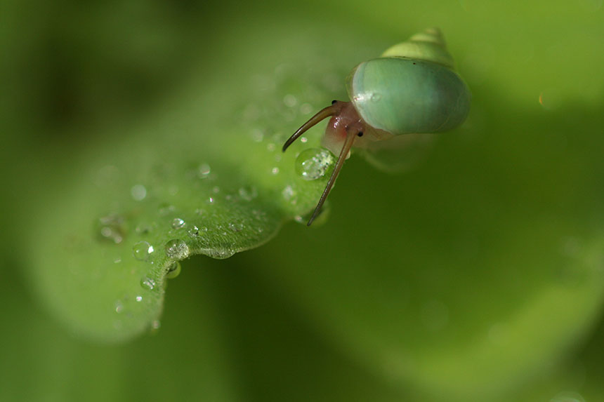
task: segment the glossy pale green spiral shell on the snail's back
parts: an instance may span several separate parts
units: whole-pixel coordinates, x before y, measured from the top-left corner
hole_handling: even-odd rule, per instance
[[[395,135],[451,130],[466,119],[471,99],[452,68],[440,30],[428,29],[355,67],[348,95],[373,128]]]

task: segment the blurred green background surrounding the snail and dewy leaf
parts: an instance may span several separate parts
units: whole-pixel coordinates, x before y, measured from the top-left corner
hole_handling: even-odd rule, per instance
[[[473,104],[419,166],[353,157],[325,225],[186,260],[153,334],[94,344],[48,314],[30,234],[103,144],[205,87],[177,126],[221,135],[205,117],[263,102],[257,74],[431,26]],[[4,1],[0,400],[604,401],[603,43],[601,0]]]

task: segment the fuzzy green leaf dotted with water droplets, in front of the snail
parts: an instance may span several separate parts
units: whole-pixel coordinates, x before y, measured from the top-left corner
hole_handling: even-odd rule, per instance
[[[73,333],[114,342],[155,328],[179,261],[230,257],[265,243],[286,220],[304,221],[332,161],[314,180],[296,173],[296,156],[318,147],[319,129],[286,153],[281,146],[333,96],[333,84],[317,79],[331,65],[310,64],[241,75],[240,88],[256,99],[239,105],[220,83],[209,85],[211,76],[192,80],[155,118],[80,151],[82,173],[66,175],[70,185],[54,198],[44,195],[29,233],[32,282]]]

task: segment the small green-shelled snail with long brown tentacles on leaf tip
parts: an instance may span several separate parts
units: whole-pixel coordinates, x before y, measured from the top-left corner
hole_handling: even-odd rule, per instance
[[[283,152],[310,127],[331,117],[322,145],[339,155],[308,226],[319,214],[351,147],[411,133],[439,133],[464,122],[470,110],[468,86],[454,72],[453,58],[438,28],[411,36],[381,57],[350,72],[350,102],[334,100],[304,123],[283,145]]]

